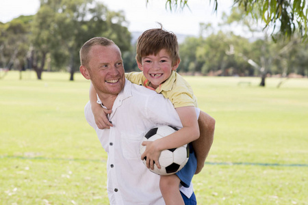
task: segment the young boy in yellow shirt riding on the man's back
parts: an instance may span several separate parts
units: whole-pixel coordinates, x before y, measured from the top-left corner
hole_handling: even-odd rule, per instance
[[[198,139],[200,133],[194,109],[197,103],[190,85],[175,72],[181,61],[175,34],[164,31],[162,28],[144,31],[138,38],[136,61],[142,72],[128,73],[126,74],[127,79],[168,98],[174,105],[183,125],[179,131],[162,139],[142,143],[146,146],[146,151],[141,159],[146,156],[147,167],[153,169],[154,163],[160,167],[158,158],[162,150],[177,148]],[[102,107],[95,103],[97,96],[92,85],[90,101],[97,125],[112,126],[111,122],[107,122],[107,118],[104,118],[106,114],[110,114],[110,111],[104,110],[102,115]],[[184,187],[190,186],[197,165],[194,150],[192,146],[190,148],[190,158],[183,169],[176,174],[161,176],[159,187],[166,204],[184,204],[179,192],[179,184],[181,183]]]

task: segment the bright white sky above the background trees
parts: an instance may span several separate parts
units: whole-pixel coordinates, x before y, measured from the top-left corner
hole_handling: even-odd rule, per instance
[[[214,13],[214,0],[190,0],[190,10],[166,10],[166,0],[99,0],[109,10],[125,12],[129,31],[145,31],[157,28],[157,22],[164,29],[176,34],[198,36],[199,23],[211,23],[214,27],[221,21],[222,12],[229,13],[233,0],[218,0],[218,12]],[[36,14],[39,0],[0,0],[0,21],[6,23],[20,15]]]

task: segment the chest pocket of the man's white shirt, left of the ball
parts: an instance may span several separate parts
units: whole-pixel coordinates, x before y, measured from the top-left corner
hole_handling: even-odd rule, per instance
[[[142,134],[131,135],[127,133],[121,133],[120,136],[121,136],[120,139],[121,139],[121,146],[124,158],[140,159],[141,154],[139,152],[139,148],[142,142],[143,135]]]

